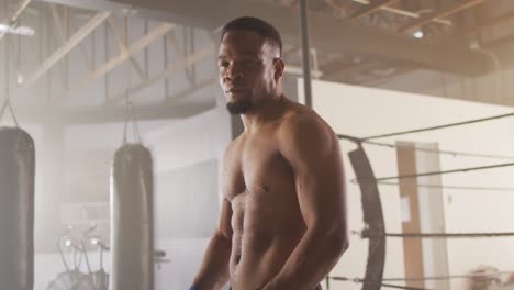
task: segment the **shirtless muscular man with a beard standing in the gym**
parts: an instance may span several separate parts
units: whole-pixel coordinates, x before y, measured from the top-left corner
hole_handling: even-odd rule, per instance
[[[282,94],[279,33],[239,18],[219,52],[227,110],[245,131],[226,149],[223,204],[194,290],[313,290],[348,247],[337,136]]]

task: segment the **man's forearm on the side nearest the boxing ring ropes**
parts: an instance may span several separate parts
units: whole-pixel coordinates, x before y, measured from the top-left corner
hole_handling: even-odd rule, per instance
[[[347,246],[346,233],[308,230],[282,270],[262,290],[312,290]]]

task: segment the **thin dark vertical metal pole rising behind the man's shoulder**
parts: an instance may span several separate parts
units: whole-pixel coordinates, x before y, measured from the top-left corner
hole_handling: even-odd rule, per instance
[[[302,38],[302,68],[305,105],[312,107],[311,59],[309,46],[308,0],[300,0],[300,33]]]

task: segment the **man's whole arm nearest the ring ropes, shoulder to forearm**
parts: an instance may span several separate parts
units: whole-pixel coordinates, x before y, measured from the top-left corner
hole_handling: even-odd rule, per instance
[[[321,119],[286,121],[280,153],[294,174],[306,232],[264,290],[312,290],[348,247],[343,161],[337,136]]]

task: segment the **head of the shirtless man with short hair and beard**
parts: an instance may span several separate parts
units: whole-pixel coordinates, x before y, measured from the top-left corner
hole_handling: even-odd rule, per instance
[[[232,114],[247,113],[281,94],[281,53],[280,34],[260,19],[238,18],[223,27],[217,64]]]

